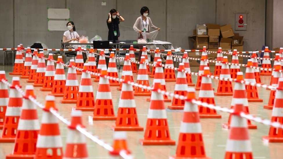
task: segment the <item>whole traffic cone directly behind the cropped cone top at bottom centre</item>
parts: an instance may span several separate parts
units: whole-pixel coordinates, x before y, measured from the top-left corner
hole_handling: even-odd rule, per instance
[[[114,131],[143,131],[144,128],[139,126],[137,118],[136,103],[134,99],[133,87],[127,84],[131,76],[129,72],[125,73],[122,84],[121,96],[118,105],[118,115],[115,126],[112,126]]]

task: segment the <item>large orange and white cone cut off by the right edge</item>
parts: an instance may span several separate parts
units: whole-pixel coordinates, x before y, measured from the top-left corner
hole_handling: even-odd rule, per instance
[[[279,78],[278,86],[275,95],[274,106],[272,110],[271,122],[283,124],[283,78]],[[270,126],[268,136],[263,136],[262,140],[265,142],[283,142],[283,130],[278,127]]]

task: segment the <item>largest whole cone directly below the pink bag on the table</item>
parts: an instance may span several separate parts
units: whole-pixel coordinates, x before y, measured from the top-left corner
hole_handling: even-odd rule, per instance
[[[81,74],[81,83],[79,86],[79,95],[77,100],[76,110],[93,111],[94,110],[94,95],[90,74],[86,73],[89,70],[88,63],[84,63],[84,70]]]

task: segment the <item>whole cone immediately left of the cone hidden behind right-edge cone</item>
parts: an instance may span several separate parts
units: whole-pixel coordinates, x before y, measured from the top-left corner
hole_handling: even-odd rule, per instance
[[[253,68],[250,68],[249,66],[252,66],[252,60],[248,59],[247,67],[246,67],[246,76],[245,81],[256,83],[255,81],[255,72],[253,72]],[[252,85],[246,85],[246,91],[247,91],[247,98],[248,102],[263,102],[262,99],[259,99],[258,93],[257,93],[257,87]]]

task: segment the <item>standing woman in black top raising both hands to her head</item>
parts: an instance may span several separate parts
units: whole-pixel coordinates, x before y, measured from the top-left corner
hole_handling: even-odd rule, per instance
[[[119,23],[125,19],[115,9],[111,9],[107,19],[108,40],[118,40],[120,36]]]

